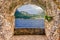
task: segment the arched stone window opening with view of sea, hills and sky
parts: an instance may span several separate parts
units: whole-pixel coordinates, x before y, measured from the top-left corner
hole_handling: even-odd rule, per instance
[[[25,4],[16,9],[14,16],[14,35],[45,35],[45,12],[42,7]]]

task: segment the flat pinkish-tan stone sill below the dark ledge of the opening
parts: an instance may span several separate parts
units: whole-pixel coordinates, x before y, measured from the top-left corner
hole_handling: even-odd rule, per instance
[[[20,35],[12,37],[12,40],[48,40],[45,35]]]

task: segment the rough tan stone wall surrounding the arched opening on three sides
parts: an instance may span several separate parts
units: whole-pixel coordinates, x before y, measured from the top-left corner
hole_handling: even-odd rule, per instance
[[[45,31],[49,40],[60,40],[60,0],[0,0],[0,40],[10,40],[14,33],[14,12],[24,4],[43,5],[45,13],[53,20],[45,20]]]

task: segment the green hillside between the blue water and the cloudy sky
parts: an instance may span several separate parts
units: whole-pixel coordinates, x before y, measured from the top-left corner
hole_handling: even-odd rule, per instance
[[[19,12],[16,10],[15,12],[15,18],[22,18],[22,19],[36,19],[36,18],[44,18],[44,12],[38,13],[38,14],[29,14],[28,12],[21,11]]]

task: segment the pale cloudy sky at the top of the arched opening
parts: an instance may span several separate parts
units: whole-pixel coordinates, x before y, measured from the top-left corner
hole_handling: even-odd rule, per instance
[[[43,9],[39,6],[36,5],[32,5],[32,4],[27,4],[27,5],[23,5],[19,8],[17,8],[17,10],[20,11],[25,11],[28,12],[29,14],[37,14],[37,13],[42,13]]]

